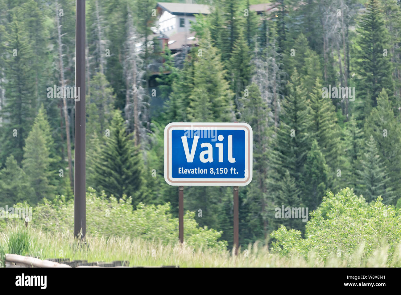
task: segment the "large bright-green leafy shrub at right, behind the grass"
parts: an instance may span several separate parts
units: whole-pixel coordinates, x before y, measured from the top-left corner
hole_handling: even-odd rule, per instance
[[[362,251],[364,258],[386,243],[391,261],[401,240],[401,216],[381,201],[379,196],[367,203],[350,188],[340,190],[335,196],[329,192],[310,214],[305,238],[301,238],[299,231],[282,226],[271,233],[274,238],[271,251],[283,256],[292,253],[307,257],[313,249],[324,260]]]

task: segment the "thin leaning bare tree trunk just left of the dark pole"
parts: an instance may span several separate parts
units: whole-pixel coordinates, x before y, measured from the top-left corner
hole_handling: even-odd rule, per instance
[[[61,43],[61,25],[59,19],[59,4],[56,2],[56,23],[57,23],[57,33],[58,33],[58,43],[59,43],[59,68],[60,68],[60,80],[61,80],[61,89],[64,91],[64,63],[63,63],[63,43]],[[70,123],[68,121],[68,112],[67,112],[67,99],[63,93],[63,111],[64,111],[64,120],[65,120],[65,131],[67,137],[67,156],[68,156],[68,169],[70,176],[70,185],[71,190],[74,191],[74,180],[73,180],[73,168],[72,168],[72,157],[71,157],[71,138],[70,138]]]

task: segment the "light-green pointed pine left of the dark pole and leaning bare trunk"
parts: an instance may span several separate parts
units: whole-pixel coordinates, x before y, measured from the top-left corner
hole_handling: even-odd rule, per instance
[[[43,198],[55,197],[55,186],[51,179],[58,175],[58,171],[52,171],[54,159],[50,158],[49,148],[52,142],[50,128],[41,109],[26,138],[22,160],[28,183],[35,192],[30,198],[31,204],[36,204]]]

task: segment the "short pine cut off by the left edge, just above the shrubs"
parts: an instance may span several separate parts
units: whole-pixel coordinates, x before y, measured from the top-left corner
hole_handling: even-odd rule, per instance
[[[27,182],[27,176],[18,166],[13,155],[10,155],[0,170],[0,207],[9,207],[18,202],[30,202],[35,199],[35,192]]]

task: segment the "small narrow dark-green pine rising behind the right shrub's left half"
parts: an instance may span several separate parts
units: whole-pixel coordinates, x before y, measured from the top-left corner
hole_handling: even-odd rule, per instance
[[[302,187],[306,196],[305,204],[311,212],[319,206],[322,197],[325,195],[326,183],[329,178],[329,169],[316,139],[312,141],[312,147],[306,157],[304,171],[305,177]]]

